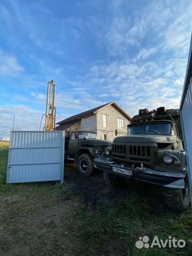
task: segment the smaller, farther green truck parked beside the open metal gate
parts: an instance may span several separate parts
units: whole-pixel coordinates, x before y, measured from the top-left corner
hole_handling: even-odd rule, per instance
[[[65,159],[77,164],[78,172],[90,176],[94,172],[93,158],[102,154],[110,141],[97,139],[92,131],[73,131],[66,134]]]

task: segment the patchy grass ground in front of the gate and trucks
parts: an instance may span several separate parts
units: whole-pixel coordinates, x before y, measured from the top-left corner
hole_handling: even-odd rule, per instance
[[[0,149],[1,255],[191,255],[190,209],[164,211],[161,202],[153,206],[151,195],[139,196],[137,190],[129,198],[92,205],[83,203],[73,182],[5,185],[7,155]],[[66,171],[74,174],[74,167]],[[186,246],[139,250],[135,242],[144,235],[150,242],[171,235]]]

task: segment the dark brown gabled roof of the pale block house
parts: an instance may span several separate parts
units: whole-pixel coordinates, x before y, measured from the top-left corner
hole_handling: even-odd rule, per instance
[[[101,105],[99,107],[92,108],[90,110],[84,111],[84,112],[79,113],[77,115],[70,116],[70,117],[58,122],[57,124],[64,124],[64,123],[67,123],[69,121],[80,120],[83,117],[96,114],[98,111],[100,111],[101,109],[103,109],[103,108],[105,108],[109,105],[114,105],[127,119],[131,119],[131,117],[122,108],[120,108],[114,101],[112,101],[112,102],[109,102],[107,104]]]

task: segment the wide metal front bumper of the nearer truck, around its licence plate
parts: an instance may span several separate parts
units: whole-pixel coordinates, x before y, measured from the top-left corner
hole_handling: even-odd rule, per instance
[[[135,170],[131,167],[121,167],[118,163],[108,163],[106,159],[94,158],[94,167],[102,171],[110,172],[119,175],[125,179],[134,179],[154,185],[159,185],[169,188],[185,188],[185,174],[174,171],[156,171],[145,167],[143,170]],[[113,167],[123,170],[132,171],[132,176],[113,171]]]

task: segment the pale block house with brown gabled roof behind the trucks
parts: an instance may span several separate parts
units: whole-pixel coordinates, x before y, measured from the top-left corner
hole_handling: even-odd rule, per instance
[[[56,130],[90,130],[97,132],[98,139],[113,140],[116,129],[119,135],[126,134],[130,119],[117,103],[109,102],[60,121]]]

